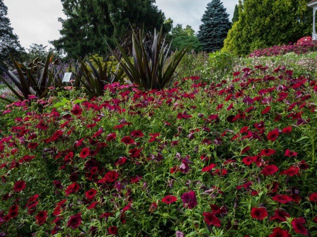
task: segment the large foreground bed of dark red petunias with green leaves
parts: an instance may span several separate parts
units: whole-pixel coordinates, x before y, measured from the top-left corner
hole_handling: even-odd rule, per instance
[[[316,79],[105,89],[2,112],[0,236],[317,236]]]

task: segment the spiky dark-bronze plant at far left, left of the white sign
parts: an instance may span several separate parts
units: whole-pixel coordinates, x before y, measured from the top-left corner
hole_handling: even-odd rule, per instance
[[[27,100],[30,95],[34,95],[36,98],[41,99],[48,95],[49,87],[62,86],[58,70],[51,65],[53,63],[53,55],[51,55],[51,53],[47,55],[45,63],[38,61],[38,59],[30,64],[19,63],[13,59],[12,61],[17,75],[13,74],[10,70],[7,71],[2,66],[0,66],[0,70],[11,79],[17,90],[3,79],[3,77],[0,76],[0,79],[17,98],[7,95],[6,97],[0,97],[1,99],[8,102],[17,99]]]

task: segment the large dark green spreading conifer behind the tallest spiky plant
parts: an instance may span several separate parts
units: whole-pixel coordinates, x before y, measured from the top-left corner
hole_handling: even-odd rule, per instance
[[[61,0],[66,19],[62,23],[62,37],[52,43],[68,56],[106,54],[106,41],[115,45],[128,31],[130,24],[144,30],[164,27],[164,14],[154,5],[155,0]]]

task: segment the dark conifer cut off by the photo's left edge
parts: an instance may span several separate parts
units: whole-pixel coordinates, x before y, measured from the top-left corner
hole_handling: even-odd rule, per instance
[[[11,64],[9,55],[14,58],[19,57],[24,52],[18,40],[18,36],[13,33],[13,28],[7,15],[8,8],[0,0],[0,65]]]

